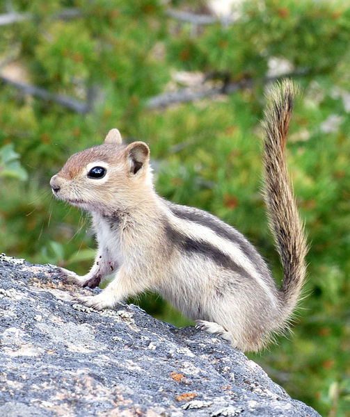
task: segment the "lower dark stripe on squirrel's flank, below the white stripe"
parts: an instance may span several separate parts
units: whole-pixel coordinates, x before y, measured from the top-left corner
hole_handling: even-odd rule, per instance
[[[214,261],[216,265],[231,270],[236,275],[239,275],[239,277],[252,279],[244,268],[237,265],[230,256],[219,250],[217,247],[210,245],[210,243],[207,243],[204,240],[196,240],[182,234],[180,231],[174,229],[166,219],[164,219],[164,229],[170,243],[179,248],[183,253],[189,252],[191,254],[200,254],[205,256],[205,258]]]

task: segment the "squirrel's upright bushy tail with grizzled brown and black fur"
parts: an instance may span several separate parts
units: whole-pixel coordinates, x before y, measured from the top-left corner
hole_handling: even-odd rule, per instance
[[[292,81],[276,83],[264,112],[264,199],[269,225],[283,265],[280,300],[286,320],[298,302],[305,279],[308,252],[285,161],[285,145],[297,92]]]

